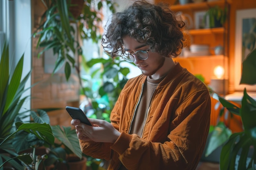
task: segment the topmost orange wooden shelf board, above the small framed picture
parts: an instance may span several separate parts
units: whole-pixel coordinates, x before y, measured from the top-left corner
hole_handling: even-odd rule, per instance
[[[202,9],[209,9],[210,7],[219,6],[225,7],[225,3],[231,4],[231,0],[216,0],[211,2],[200,2],[200,3],[188,3],[184,5],[171,5],[171,10],[173,11],[182,11],[182,10],[202,10]]]

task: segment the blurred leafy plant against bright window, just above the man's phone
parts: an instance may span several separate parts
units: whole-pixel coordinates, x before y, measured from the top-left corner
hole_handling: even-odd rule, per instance
[[[126,61],[120,57],[113,60],[109,56],[108,58],[95,58],[89,61],[85,61],[83,58],[81,65],[90,69],[87,69],[86,75],[81,76],[81,94],[85,94],[86,97],[80,108],[87,113],[88,117],[110,121],[110,112],[115,106],[117,97],[126,84],[127,75],[130,72],[128,67],[122,66],[122,62]],[[86,157],[88,166],[92,170],[102,169],[100,165],[105,163],[104,160]]]

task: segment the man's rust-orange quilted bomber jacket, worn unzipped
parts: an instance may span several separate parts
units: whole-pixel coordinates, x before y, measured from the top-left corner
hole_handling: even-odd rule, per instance
[[[153,94],[140,138],[128,132],[145,81],[145,75],[129,79],[111,112],[111,124],[121,132],[117,141],[80,140],[81,150],[111,159],[108,170],[118,170],[121,163],[128,170],[195,170],[209,132],[207,86],[176,63]]]

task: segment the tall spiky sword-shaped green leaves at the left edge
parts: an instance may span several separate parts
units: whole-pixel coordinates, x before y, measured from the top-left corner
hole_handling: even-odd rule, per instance
[[[21,95],[27,90],[24,87],[30,75],[29,72],[27,76],[21,79],[23,58],[24,55],[20,58],[15,69],[13,69],[13,73],[10,73],[9,45],[7,43],[4,44],[0,61],[0,142],[4,141],[4,143],[0,145],[0,150],[3,149],[11,155],[16,155],[16,153],[13,152],[13,147],[10,145],[13,136],[9,137],[9,135],[14,131],[14,120],[19,115],[20,108],[27,99],[27,97],[21,98]],[[0,164],[3,163],[3,157],[0,154]],[[15,161],[13,160],[13,162]],[[22,169],[20,164],[13,164],[17,165],[15,168]]]

